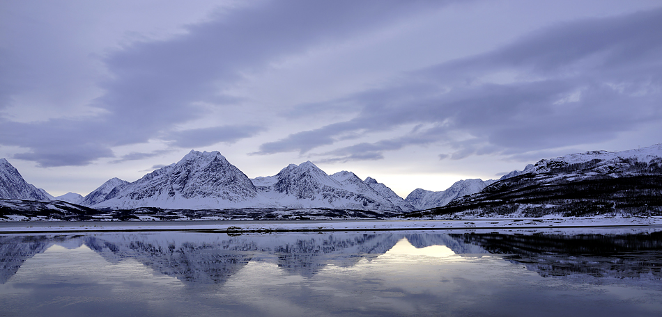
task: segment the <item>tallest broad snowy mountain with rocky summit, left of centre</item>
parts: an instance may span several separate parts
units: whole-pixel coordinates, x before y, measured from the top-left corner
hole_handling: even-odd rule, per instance
[[[192,150],[178,163],[146,174],[116,193],[111,190],[108,195],[111,194],[112,197],[105,197],[108,199],[93,206],[117,209],[143,206],[171,209],[245,207],[254,204],[257,189],[219,152]]]

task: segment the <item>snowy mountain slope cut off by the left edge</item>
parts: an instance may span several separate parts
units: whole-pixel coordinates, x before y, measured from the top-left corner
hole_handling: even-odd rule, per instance
[[[0,158],[0,198],[11,200],[52,200],[45,190],[28,184],[5,158]]]

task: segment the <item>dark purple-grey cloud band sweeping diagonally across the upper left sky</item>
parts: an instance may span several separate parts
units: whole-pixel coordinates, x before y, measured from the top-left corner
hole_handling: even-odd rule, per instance
[[[240,128],[220,131],[217,136],[203,131],[185,131],[177,136],[174,128],[207,113],[206,108],[197,106],[199,101],[221,100],[218,107],[231,102],[219,95],[220,90],[241,79],[240,72],[260,70],[288,54],[342,41],[445,2],[265,1],[261,6],[223,11],[210,22],[189,26],[185,35],[134,42],[105,56],[102,61],[110,76],[100,83],[105,93],[92,104],[104,113],[95,122],[6,122],[11,128],[5,125],[3,130],[12,131],[0,134],[0,144],[30,149],[16,158],[59,166],[85,165],[96,158],[112,157],[111,147],[161,136],[169,136],[180,147],[236,142],[252,132]],[[6,106],[19,89],[9,83],[31,80],[29,67],[15,69],[6,64],[1,65],[8,72],[0,74],[0,107]],[[10,64],[19,65],[20,58]]]

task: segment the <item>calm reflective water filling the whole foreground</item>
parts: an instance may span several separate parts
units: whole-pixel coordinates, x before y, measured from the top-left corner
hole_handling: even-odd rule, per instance
[[[662,316],[662,229],[0,235],[0,316]]]

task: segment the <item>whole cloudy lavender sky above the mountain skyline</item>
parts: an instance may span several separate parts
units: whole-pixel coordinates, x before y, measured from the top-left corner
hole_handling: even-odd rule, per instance
[[[0,158],[52,195],[191,149],[402,197],[662,143],[659,0],[0,0]]]

